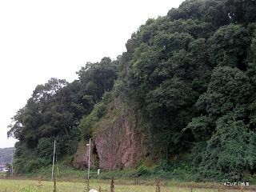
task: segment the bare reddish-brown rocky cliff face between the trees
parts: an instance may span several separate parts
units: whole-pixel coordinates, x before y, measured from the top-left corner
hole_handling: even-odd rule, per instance
[[[136,165],[148,153],[145,139],[137,128],[134,111],[115,98],[108,105],[108,112],[94,129],[91,164],[104,170],[121,170]],[[74,158],[74,166],[88,164],[88,152],[80,144]],[[96,167],[98,166],[98,167]]]

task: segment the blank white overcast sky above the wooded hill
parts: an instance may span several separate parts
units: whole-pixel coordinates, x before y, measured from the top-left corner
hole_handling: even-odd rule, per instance
[[[0,1],[0,148],[14,146],[7,126],[34,88],[50,78],[78,79],[86,62],[116,58],[147,18],[184,0]]]

